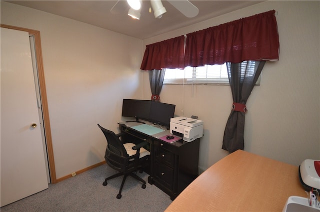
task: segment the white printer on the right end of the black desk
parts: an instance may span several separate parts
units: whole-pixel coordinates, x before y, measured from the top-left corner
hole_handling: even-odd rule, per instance
[[[170,133],[183,135],[183,141],[191,142],[203,136],[203,121],[183,116],[170,118]]]

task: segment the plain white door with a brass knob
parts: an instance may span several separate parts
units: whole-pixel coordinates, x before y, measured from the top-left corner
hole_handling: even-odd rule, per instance
[[[28,32],[1,27],[0,42],[0,205],[5,206],[48,184]]]

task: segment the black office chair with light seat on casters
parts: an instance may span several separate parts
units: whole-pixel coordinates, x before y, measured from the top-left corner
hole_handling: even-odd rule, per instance
[[[123,175],[121,187],[119,194],[116,196],[117,199],[120,199],[121,191],[127,176],[131,176],[136,180],[142,182],[142,189],[145,189],[145,181],[136,175],[136,172],[139,171],[142,173],[142,170],[146,168],[149,164],[149,155],[150,153],[143,148],[147,145],[147,142],[139,143],[135,145],[133,143],[122,143],[119,139],[123,134],[119,133],[115,135],[112,131],[104,129],[98,124],[98,127],[102,130],[106,141],[107,146],[105,149],[104,159],[105,162],[114,170],[119,173],[112,175],[106,178],[103,182],[103,186],[107,185],[107,181]]]

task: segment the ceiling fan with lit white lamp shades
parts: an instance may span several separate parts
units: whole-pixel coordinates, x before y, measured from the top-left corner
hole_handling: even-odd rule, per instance
[[[114,9],[117,3],[122,0],[118,0],[110,9]],[[127,4],[130,6],[128,10],[128,15],[132,18],[140,19],[140,10],[142,6],[142,0],[126,0]],[[172,6],[174,6],[177,10],[179,10],[186,17],[195,17],[199,13],[199,9],[194,6],[188,0],[166,0]],[[161,0],[150,0],[151,7],[149,7],[149,12],[153,10],[153,14],[155,18],[161,18],[164,13],[166,13],[166,9],[163,7]]]

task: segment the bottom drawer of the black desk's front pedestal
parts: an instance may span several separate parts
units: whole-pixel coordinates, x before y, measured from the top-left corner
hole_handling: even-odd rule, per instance
[[[172,190],[173,188],[173,169],[160,163],[154,164],[155,178],[161,184]]]

